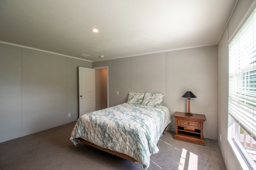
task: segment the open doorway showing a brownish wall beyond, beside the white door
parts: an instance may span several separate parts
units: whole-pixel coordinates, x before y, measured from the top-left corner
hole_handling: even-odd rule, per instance
[[[108,67],[95,69],[96,110],[108,107]]]

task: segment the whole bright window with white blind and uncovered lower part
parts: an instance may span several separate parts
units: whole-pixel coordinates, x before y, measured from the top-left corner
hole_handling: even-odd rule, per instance
[[[252,169],[256,169],[255,11],[229,44],[229,125],[232,128],[228,137]]]

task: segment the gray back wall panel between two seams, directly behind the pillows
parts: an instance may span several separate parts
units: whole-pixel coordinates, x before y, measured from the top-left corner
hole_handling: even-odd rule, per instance
[[[132,57],[132,92],[156,92],[165,94],[163,105],[167,106],[166,61],[167,53]]]

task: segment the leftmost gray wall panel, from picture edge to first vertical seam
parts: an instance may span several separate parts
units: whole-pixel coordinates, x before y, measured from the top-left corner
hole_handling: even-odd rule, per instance
[[[22,136],[21,48],[0,43],[0,142]]]

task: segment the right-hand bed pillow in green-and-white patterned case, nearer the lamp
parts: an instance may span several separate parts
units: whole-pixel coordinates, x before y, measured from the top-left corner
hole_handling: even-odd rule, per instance
[[[163,98],[164,94],[146,92],[141,104],[146,106],[160,107],[162,106]]]

